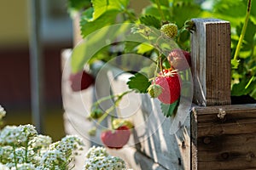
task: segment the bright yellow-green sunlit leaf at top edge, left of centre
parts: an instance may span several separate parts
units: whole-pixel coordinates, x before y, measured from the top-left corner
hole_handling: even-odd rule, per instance
[[[108,10],[124,10],[129,0],[92,0],[91,3],[94,8],[93,20],[96,20]]]

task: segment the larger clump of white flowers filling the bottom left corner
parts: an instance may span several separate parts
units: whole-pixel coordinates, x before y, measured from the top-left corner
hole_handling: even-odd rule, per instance
[[[0,105],[0,118],[5,111]],[[1,121],[1,120],[0,120]],[[67,170],[82,139],[67,136],[52,144],[30,124],[0,129],[0,170]]]

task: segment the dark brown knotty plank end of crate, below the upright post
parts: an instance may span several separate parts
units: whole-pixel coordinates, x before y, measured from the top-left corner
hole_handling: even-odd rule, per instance
[[[256,168],[256,104],[195,107],[192,169]]]

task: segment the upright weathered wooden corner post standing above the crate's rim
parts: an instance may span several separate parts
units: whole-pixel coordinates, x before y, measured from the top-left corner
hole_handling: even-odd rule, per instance
[[[194,102],[230,105],[230,22],[193,19],[191,35]]]

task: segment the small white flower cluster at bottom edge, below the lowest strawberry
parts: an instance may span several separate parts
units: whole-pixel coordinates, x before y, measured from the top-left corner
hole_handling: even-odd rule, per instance
[[[102,147],[91,147],[86,153],[84,170],[125,170],[125,161],[116,156],[109,156]]]

